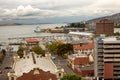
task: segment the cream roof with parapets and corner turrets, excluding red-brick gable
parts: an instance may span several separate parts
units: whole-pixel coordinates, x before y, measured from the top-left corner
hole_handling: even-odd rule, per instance
[[[25,54],[21,59],[19,57],[14,57],[14,80],[16,80],[17,77],[22,76],[23,73],[30,72],[34,68],[39,68],[43,71],[49,71],[52,74],[56,74],[57,78],[62,77],[64,72],[64,69],[58,69],[56,67],[49,55],[43,57],[41,55],[35,54],[34,52],[30,52]],[[13,78],[13,72],[8,73],[9,80]]]

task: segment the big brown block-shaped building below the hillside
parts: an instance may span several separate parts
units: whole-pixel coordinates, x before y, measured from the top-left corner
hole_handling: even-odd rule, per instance
[[[114,22],[108,19],[103,19],[96,22],[96,34],[113,34]]]

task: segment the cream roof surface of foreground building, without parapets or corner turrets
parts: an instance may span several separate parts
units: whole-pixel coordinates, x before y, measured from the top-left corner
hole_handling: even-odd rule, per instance
[[[32,54],[29,53],[24,55],[23,58],[15,63],[14,71],[17,77],[22,76],[23,73],[28,73],[33,68],[39,68],[44,71],[50,71],[55,74],[56,66],[48,57],[41,57],[40,55],[34,54],[36,63],[33,62]]]

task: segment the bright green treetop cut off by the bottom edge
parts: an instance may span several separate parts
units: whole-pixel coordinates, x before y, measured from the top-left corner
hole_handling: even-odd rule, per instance
[[[83,78],[76,74],[65,74],[60,80],[83,80]]]

